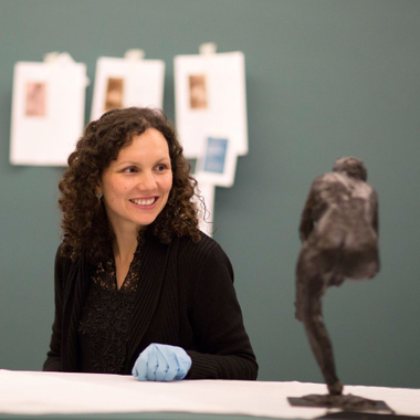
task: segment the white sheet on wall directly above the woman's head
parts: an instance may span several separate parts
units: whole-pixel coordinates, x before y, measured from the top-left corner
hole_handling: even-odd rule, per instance
[[[164,103],[165,62],[138,57],[99,57],[96,62],[91,119],[113,108]]]

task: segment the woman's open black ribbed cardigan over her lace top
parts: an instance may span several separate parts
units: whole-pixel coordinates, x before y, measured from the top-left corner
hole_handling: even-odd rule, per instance
[[[147,237],[123,374],[150,343],[182,347],[187,379],[256,379],[258,364],[233,288],[232,265],[211,238],[199,243]],[[77,328],[92,267],[55,259],[55,318],[44,370],[80,371]]]

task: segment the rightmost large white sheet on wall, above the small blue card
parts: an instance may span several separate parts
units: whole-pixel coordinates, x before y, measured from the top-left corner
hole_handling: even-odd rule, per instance
[[[211,133],[248,154],[244,63],[242,52],[175,57],[176,124],[188,158],[199,157]]]

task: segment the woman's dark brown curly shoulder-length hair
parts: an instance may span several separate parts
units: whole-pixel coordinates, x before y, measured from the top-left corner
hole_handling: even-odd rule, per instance
[[[161,111],[130,107],[112,109],[91,122],[69,156],[69,168],[59,183],[63,255],[75,260],[85,254],[93,262],[109,256],[113,233],[104,204],[95,195],[98,180],[112,160],[117,159],[119,150],[148,128],[159,130],[168,143],[172,188],[164,210],[146,231],[162,243],[169,243],[175,235],[200,241],[198,212],[192,201],[197,181],[190,175],[190,164],[172,125]],[[139,231],[139,242],[143,238],[144,230]]]

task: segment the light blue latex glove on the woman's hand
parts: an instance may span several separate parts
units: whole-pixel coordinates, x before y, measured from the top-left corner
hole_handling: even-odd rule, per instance
[[[138,380],[171,381],[183,379],[190,367],[183,348],[153,343],[140,353],[132,374]]]

